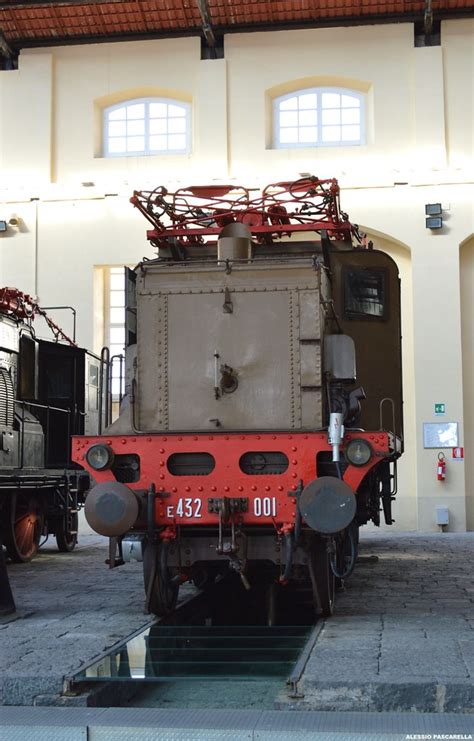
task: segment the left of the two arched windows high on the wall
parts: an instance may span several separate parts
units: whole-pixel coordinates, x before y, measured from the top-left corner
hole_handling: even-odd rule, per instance
[[[104,156],[187,154],[191,140],[189,103],[137,98],[104,110]]]

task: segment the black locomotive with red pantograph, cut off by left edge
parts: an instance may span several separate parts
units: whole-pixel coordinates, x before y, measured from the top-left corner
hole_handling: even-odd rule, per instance
[[[35,317],[52,340],[37,337]],[[76,545],[90,479],[71,460],[71,435],[98,432],[103,374],[31,296],[0,289],[0,528],[13,561],[31,561],[48,535],[60,551]]]

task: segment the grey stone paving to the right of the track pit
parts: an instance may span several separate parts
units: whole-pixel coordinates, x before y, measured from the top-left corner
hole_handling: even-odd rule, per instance
[[[293,707],[474,712],[474,533],[369,531],[360,556]]]

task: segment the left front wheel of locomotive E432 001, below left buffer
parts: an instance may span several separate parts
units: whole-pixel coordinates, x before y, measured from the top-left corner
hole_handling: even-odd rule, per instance
[[[154,615],[169,615],[178,601],[179,584],[171,581],[170,570],[163,573],[162,542],[146,543],[143,553],[143,581],[145,583],[145,607]],[[165,578],[163,578],[165,577]]]

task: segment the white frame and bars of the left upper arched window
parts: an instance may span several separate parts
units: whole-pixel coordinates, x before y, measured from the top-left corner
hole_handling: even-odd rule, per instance
[[[109,134],[108,134],[108,124],[109,124],[109,116],[110,113],[113,111],[119,110],[120,108],[126,108],[130,105],[137,105],[143,103],[145,106],[145,117],[144,119],[137,119],[139,121],[144,120],[145,122],[145,148],[144,150],[138,150],[138,151],[130,151],[130,152],[111,152],[109,150]],[[179,108],[182,108],[185,112],[184,119],[186,121],[186,132],[185,132],[185,140],[186,144],[184,149],[151,149],[150,148],[150,104],[152,103],[164,103],[166,105],[173,105],[177,106]],[[169,120],[170,117],[166,117],[166,121]],[[167,134],[168,135],[168,134]],[[125,134],[125,139],[127,139],[127,135]],[[104,157],[161,157],[161,156],[167,156],[167,155],[186,155],[189,154],[191,151],[191,104],[186,103],[183,100],[177,100],[176,98],[130,98],[129,100],[122,100],[120,103],[115,103],[114,105],[108,106],[107,108],[104,108],[103,111],[103,118],[102,118],[102,141],[103,141],[103,156]]]

